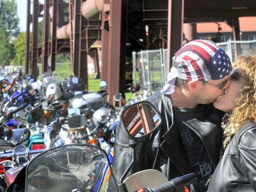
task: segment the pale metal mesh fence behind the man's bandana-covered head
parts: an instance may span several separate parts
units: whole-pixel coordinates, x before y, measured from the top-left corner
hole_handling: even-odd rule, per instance
[[[218,45],[227,52],[231,61],[234,61],[238,55],[246,55],[251,50],[256,50],[256,40],[228,40]],[[149,85],[157,83],[163,87],[167,80],[167,49],[132,52],[132,65],[134,84],[147,85],[148,90],[155,91],[153,90],[155,88]]]

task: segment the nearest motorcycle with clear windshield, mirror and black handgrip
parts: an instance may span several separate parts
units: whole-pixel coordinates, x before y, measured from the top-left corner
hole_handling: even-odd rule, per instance
[[[80,122],[73,122],[70,126],[79,127]],[[119,180],[113,174],[118,191],[184,192],[184,186],[197,180],[196,174],[190,173],[168,181],[157,170],[144,170],[124,179],[134,165],[140,140],[158,129],[162,119],[151,103],[142,101],[124,109],[121,123],[130,140],[127,147],[132,148],[132,161]],[[15,188],[25,192],[103,192],[108,190],[111,171],[108,155],[103,149],[88,144],[63,145],[34,157],[6,191]]]

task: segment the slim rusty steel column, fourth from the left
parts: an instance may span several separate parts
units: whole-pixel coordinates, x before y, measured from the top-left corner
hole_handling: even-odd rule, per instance
[[[56,69],[56,54],[57,54],[57,38],[56,38],[56,30],[57,30],[57,8],[58,8],[59,0],[52,0],[52,36],[51,36],[51,71]]]

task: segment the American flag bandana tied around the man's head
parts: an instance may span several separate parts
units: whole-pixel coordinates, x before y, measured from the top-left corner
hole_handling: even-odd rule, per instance
[[[196,81],[218,80],[228,76],[231,70],[227,53],[217,44],[210,40],[193,40],[175,53],[168,81],[161,93],[174,92],[176,77]]]

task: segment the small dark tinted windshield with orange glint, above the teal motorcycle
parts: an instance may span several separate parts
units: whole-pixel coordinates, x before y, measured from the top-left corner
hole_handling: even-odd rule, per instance
[[[30,115],[32,121],[43,121],[45,124],[50,123],[55,116],[59,116],[54,109],[37,109],[33,110]]]

